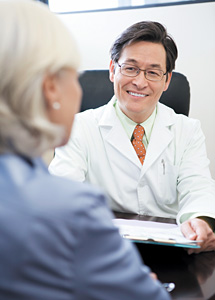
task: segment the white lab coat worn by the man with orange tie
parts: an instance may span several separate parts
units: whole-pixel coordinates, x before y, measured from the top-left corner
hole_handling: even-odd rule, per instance
[[[215,216],[215,184],[200,122],[158,103],[141,165],[116,116],[114,98],[77,114],[69,143],[56,149],[51,173],[103,187],[115,211],[160,217]]]

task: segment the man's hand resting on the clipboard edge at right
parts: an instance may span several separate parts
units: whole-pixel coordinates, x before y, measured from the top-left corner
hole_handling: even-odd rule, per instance
[[[181,225],[181,232],[189,240],[201,241],[201,248],[189,249],[188,254],[215,251],[215,234],[206,221],[198,218],[185,221]]]

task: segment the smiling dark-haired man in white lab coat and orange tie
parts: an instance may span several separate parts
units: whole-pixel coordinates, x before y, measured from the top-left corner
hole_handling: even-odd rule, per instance
[[[53,174],[101,186],[115,211],[176,218],[182,232],[215,250],[215,185],[200,123],[159,103],[177,47],[157,22],[127,28],[111,48],[115,95],[79,113]],[[95,83],[96,84],[96,83]]]

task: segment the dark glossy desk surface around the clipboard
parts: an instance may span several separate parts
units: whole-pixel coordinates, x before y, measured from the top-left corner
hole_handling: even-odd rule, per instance
[[[116,218],[175,223],[174,219],[114,213]],[[183,248],[135,243],[161,282],[174,282],[172,299],[215,300],[215,252],[188,255]]]

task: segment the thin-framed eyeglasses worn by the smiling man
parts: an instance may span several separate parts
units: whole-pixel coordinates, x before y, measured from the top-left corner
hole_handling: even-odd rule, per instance
[[[129,64],[119,64],[120,72],[122,75],[128,76],[128,77],[136,77],[138,74],[140,74],[140,71],[144,72],[145,78],[150,81],[161,81],[164,77],[164,75],[167,74],[164,73],[162,70],[159,69],[146,69],[142,70],[136,66],[129,65]]]

